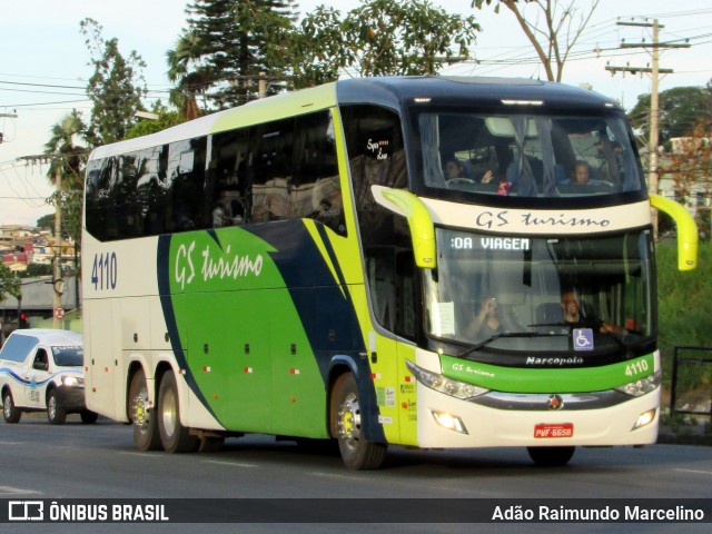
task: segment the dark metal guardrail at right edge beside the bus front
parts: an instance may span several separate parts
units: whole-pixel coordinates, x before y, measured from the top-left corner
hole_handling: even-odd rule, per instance
[[[703,399],[706,409],[700,409]],[[703,404],[691,406],[692,400]],[[712,347],[674,347],[670,413],[712,417]]]

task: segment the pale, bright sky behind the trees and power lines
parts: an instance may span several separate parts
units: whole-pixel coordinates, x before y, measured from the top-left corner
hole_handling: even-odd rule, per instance
[[[565,0],[566,2],[568,0]],[[88,119],[91,109],[83,89],[92,73],[79,21],[90,17],[103,27],[106,39],[117,38],[125,57],[136,50],[147,62],[144,75],[150,96],[167,101],[166,51],[185,28],[184,0],[0,0],[0,225],[30,225],[55,209],[44,201],[52,192],[47,166],[18,160],[39,155],[50,138],[52,125],[72,109]],[[342,11],[359,0],[301,0],[299,11],[328,3]],[[471,8],[471,0],[431,0],[449,12],[474,14],[482,32],[471,61],[445,69],[443,75],[513,76],[545,78],[534,51],[513,14],[493,7]],[[592,0],[576,0],[585,12]],[[527,8],[527,12],[528,12]],[[626,109],[640,95],[651,92],[651,79],[643,75],[616,73],[615,67],[646,67],[651,57],[643,49],[620,49],[620,43],[651,42],[647,28],[619,22],[649,22],[657,19],[661,42],[684,42],[690,48],[671,48],[661,53],[664,76],[660,90],[705,86],[712,79],[712,1],[710,0],[600,0],[585,31],[564,67],[563,81],[586,85],[617,99]],[[594,50],[599,49],[596,53]],[[67,86],[58,88],[56,86]],[[147,101],[147,106],[150,106]],[[17,116],[17,117],[3,117]]]

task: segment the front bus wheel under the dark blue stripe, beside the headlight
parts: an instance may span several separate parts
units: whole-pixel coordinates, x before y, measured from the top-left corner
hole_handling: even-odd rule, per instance
[[[349,469],[380,467],[386,459],[387,445],[363,436],[358,386],[350,373],[339,376],[334,384],[329,413],[344,465]]]

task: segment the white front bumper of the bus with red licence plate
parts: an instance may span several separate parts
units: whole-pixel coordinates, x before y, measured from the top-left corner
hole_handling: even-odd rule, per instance
[[[660,387],[640,397],[485,394],[459,399],[417,384],[418,446],[610,446],[657,439]],[[609,394],[610,393],[610,394]],[[617,398],[617,400],[616,400]]]

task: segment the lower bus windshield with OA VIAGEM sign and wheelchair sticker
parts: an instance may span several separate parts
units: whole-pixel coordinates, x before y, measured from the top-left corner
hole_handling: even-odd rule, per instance
[[[433,337],[491,349],[595,352],[653,334],[649,230],[580,238],[438,228],[436,239],[437,269],[425,274]],[[586,343],[573,346],[574,333]]]

